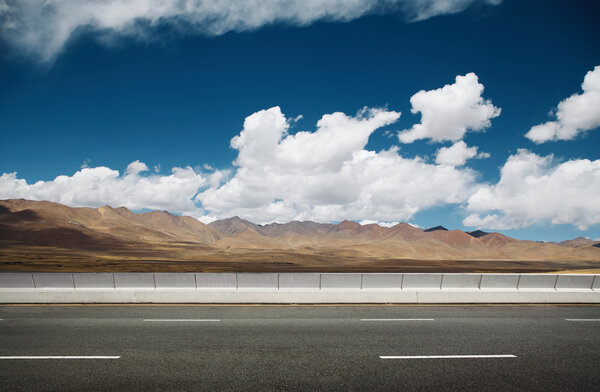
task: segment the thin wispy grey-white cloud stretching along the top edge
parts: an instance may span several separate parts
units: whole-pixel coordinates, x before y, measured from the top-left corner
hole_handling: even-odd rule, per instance
[[[365,14],[402,10],[413,21],[501,0],[0,0],[1,36],[42,61],[51,61],[82,32],[104,38],[147,39],[157,26],[179,34],[215,36],[285,23],[345,22]]]

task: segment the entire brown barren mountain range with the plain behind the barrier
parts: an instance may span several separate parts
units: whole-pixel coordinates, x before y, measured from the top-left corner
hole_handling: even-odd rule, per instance
[[[4,270],[595,270],[598,242],[521,241],[481,230],[311,221],[208,225],[165,211],[0,201]]]

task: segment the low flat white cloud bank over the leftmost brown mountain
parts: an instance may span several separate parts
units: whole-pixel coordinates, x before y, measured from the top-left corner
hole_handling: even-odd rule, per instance
[[[142,175],[145,163],[134,161],[121,175],[108,167],[82,168],[72,176],[28,184],[16,173],[0,176],[0,199],[49,200],[73,207],[125,206],[193,212],[193,198],[207,178],[190,167],[175,167],[169,175]]]

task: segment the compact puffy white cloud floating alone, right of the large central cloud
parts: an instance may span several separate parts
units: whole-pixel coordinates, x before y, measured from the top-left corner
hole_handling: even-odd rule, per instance
[[[398,133],[402,143],[419,139],[435,142],[461,140],[467,130],[482,131],[500,115],[500,108],[484,100],[477,75],[456,76],[454,84],[436,90],[421,90],[410,98],[411,112],[421,113],[421,122]]]

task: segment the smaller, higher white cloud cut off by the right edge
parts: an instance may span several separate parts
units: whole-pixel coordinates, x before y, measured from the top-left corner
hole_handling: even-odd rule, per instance
[[[532,127],[525,137],[535,143],[572,140],[600,127],[600,65],[585,75],[581,89],[582,94],[573,94],[558,104],[556,121]]]

